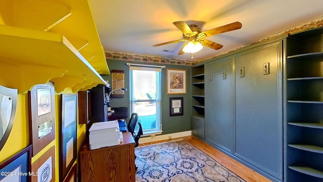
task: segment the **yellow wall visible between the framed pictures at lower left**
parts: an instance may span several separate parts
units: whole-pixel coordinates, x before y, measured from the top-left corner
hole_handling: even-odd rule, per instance
[[[61,94],[73,94],[71,89],[65,89],[63,93],[56,93],[55,95],[55,111],[56,111],[56,139],[49,143],[38,154],[32,157],[31,163],[34,163],[45,152],[47,152],[52,146],[56,146],[55,150],[55,169],[56,169],[56,181],[59,180],[59,154],[60,154],[60,142],[59,142],[59,121],[60,121],[60,105]],[[19,152],[23,148],[29,145],[29,119],[28,119],[28,94],[19,94],[18,103],[16,109],[15,121],[13,128],[10,132],[9,138],[0,151],[0,163],[4,162],[7,158]],[[77,155],[85,140],[85,124],[77,125]],[[77,162],[77,160],[76,160]]]

